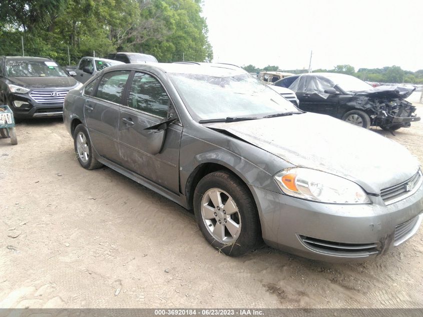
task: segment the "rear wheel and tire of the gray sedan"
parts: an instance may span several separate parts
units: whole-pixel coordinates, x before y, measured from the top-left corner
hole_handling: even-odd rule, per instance
[[[93,146],[88,135],[87,128],[83,124],[79,124],[74,132],[74,146],[78,161],[85,169],[96,169],[103,166],[97,161],[93,154]]]

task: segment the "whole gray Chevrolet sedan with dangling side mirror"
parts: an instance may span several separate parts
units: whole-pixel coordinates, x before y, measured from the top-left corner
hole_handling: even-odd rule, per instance
[[[363,260],[423,218],[423,176],[404,147],[304,113],[230,65],[112,66],[69,92],[64,121],[84,168],[104,164],[193,209],[227,255],[264,240]]]

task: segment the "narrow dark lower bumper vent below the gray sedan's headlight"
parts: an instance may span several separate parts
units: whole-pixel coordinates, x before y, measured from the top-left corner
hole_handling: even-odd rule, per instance
[[[304,235],[299,236],[309,249],[338,256],[368,256],[378,253],[378,243],[344,243],[333,242]]]

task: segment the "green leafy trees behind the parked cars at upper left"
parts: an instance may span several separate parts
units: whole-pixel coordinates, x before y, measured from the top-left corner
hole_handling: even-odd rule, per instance
[[[112,52],[154,55],[161,62],[209,61],[200,0],[2,0],[0,54],[50,56],[68,64]]]

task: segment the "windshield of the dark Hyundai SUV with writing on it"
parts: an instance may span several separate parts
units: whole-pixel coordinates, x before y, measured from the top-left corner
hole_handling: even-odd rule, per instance
[[[68,74],[53,61],[10,61],[6,64],[9,77],[65,77]]]

